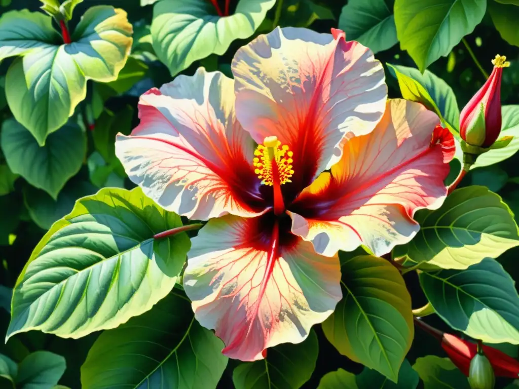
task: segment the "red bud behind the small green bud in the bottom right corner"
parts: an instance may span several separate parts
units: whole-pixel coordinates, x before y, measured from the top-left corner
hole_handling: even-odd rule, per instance
[[[415,323],[435,338],[441,340],[442,348],[450,360],[468,377],[470,362],[477,354],[477,344],[452,334],[446,334],[421,320],[415,320]],[[483,345],[482,349],[490,361],[496,377],[519,378],[519,361],[491,346]]]

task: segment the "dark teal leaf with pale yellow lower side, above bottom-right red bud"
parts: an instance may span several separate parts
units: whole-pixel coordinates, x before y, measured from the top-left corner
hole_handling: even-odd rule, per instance
[[[465,270],[420,272],[419,278],[434,310],[452,328],[488,343],[519,344],[519,296],[495,259]]]

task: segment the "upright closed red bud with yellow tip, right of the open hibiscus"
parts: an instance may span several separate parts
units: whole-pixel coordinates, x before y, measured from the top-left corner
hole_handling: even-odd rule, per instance
[[[501,132],[501,73],[510,66],[506,59],[496,55],[490,77],[461,111],[459,133],[469,145],[490,147]]]

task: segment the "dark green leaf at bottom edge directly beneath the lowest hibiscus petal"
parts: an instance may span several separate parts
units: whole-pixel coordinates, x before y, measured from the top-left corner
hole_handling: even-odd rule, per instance
[[[316,368],[318,349],[313,330],[303,343],[284,343],[268,349],[265,359],[245,362],[234,369],[234,386],[236,389],[298,389]]]

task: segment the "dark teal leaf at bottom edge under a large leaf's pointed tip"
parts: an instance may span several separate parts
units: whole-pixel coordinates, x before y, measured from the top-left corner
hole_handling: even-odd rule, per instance
[[[382,376],[375,370],[367,367],[357,376],[357,385],[360,388],[370,389],[416,389],[420,379],[418,374],[413,370],[407,359],[404,359],[402,367],[398,373],[398,382],[394,383]]]

